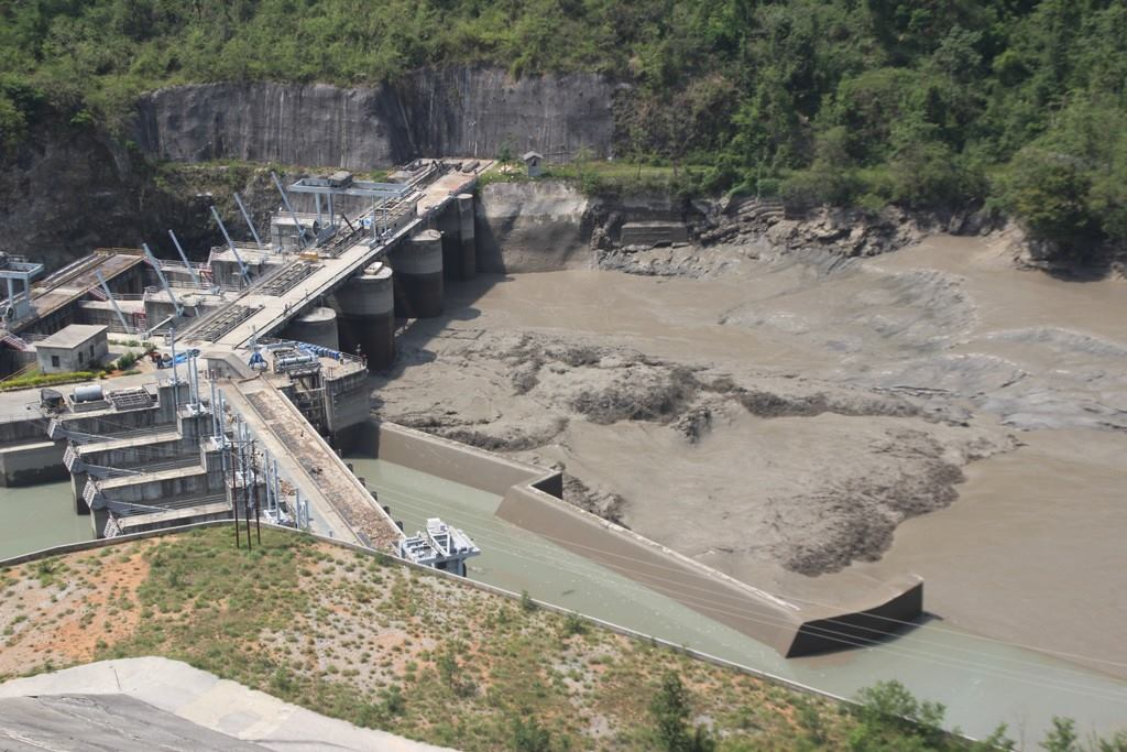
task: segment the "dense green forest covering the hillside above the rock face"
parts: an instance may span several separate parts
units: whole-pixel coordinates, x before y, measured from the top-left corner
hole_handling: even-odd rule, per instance
[[[621,152],[710,191],[1127,239],[1122,0],[0,0],[0,139],[45,107],[122,131],[168,83],[476,63],[632,85]]]

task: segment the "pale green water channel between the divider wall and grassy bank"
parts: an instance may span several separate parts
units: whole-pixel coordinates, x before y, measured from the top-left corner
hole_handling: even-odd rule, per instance
[[[1044,737],[1053,715],[1109,733],[1125,725],[1127,682],[1044,654],[925,623],[868,648],[783,660],[774,651],[494,515],[500,497],[399,465],[350,457],[357,475],[408,533],[441,516],[482,549],[472,580],[686,645],[842,697],[897,679],[947,706],[947,720],[983,736],[1000,723],[1021,746]]]

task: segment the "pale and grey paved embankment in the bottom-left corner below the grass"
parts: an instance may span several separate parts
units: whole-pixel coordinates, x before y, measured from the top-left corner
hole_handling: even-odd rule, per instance
[[[83,749],[139,752],[445,749],[358,728],[168,658],[100,661],[0,684],[0,747],[72,749],[76,738]]]

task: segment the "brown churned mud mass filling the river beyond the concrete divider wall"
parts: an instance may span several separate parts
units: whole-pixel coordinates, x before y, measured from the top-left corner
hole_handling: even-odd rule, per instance
[[[1121,661],[1112,625],[1127,611],[1098,577],[1115,556],[1107,536],[1068,517],[1046,551],[1035,527],[1010,536],[1005,522],[1020,508],[1009,495],[1032,499],[1021,514],[1059,508],[1036,493],[1044,465],[1013,477],[1026,444],[1063,457],[1127,428],[1120,283],[1017,272],[983,239],[871,259],[764,248],[651,251],[691,251],[696,278],[575,268],[579,254],[571,271],[480,278],[445,319],[410,325],[374,383],[376,412],[564,467],[568,501],[766,590],[832,602],[913,570],[935,577],[929,610],[956,623]],[[1107,462],[1070,504],[1090,502],[1092,525],[1107,524],[1121,480]],[[992,467],[1011,483],[983,496]],[[968,486],[977,508],[964,508]],[[996,514],[996,539],[968,546],[974,531],[949,522],[929,534],[933,517],[967,512],[975,524]],[[905,521],[919,531],[909,549]],[[969,561],[1000,551],[1028,574],[987,587]],[[1072,584],[1031,599],[1047,560]],[[1038,628],[1054,603],[1084,596],[1098,619]]]

